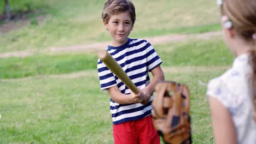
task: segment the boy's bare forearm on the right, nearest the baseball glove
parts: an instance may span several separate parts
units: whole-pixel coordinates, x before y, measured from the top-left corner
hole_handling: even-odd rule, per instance
[[[162,68],[160,67],[160,65],[158,65],[158,67],[155,67],[151,71],[151,73],[153,75],[152,81],[149,83],[149,85],[147,87],[142,89],[142,91],[148,101],[150,100],[152,93],[155,91],[156,84],[158,82],[165,80],[164,72],[162,72]]]

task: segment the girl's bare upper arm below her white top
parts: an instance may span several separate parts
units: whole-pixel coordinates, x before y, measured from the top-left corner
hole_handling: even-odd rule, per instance
[[[209,99],[215,143],[237,143],[236,129],[231,113],[216,98],[210,97]]]

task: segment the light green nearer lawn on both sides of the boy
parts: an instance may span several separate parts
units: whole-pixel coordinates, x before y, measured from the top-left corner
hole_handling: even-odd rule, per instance
[[[213,143],[206,86],[199,80],[207,82],[224,70],[173,73],[168,68],[163,67],[166,80],[189,86],[194,143]],[[96,70],[1,80],[0,95],[1,143],[113,143],[109,96],[100,91]]]

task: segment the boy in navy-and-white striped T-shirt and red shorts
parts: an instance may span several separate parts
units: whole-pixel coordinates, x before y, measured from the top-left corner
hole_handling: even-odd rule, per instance
[[[128,38],[136,19],[131,1],[107,0],[102,19],[112,37],[107,51],[140,89],[138,94],[132,93],[98,60],[101,89],[107,89],[110,95],[114,143],[160,143],[152,123],[151,104],[156,83],[164,81],[162,61],[148,41]]]

